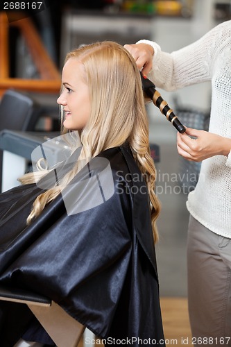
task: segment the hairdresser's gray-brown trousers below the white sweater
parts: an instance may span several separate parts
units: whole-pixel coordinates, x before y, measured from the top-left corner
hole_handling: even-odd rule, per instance
[[[192,342],[231,346],[231,239],[190,217],[187,257]]]

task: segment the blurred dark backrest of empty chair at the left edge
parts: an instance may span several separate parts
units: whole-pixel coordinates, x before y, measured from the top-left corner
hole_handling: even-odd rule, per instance
[[[6,90],[0,103],[0,131],[32,131],[40,115],[40,107],[35,101],[22,92]],[[3,151],[0,151],[0,187],[2,180]]]

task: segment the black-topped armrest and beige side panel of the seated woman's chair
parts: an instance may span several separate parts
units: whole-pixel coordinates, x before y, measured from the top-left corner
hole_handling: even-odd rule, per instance
[[[0,286],[0,300],[28,305],[58,347],[78,346],[85,326],[49,298],[22,289]]]

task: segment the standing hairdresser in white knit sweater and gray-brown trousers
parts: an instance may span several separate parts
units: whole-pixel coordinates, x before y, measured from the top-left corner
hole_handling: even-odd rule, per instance
[[[231,21],[173,53],[148,40],[125,48],[164,90],[212,83],[209,131],[177,134],[178,153],[202,162],[187,201],[189,318],[198,345],[231,346]]]

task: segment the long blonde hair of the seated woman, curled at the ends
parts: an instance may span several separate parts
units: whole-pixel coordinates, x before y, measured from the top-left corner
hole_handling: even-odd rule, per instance
[[[135,60],[123,46],[110,41],[81,46],[69,52],[65,62],[70,58],[83,64],[92,105],[89,120],[80,133],[82,149],[74,168],[66,174],[58,187],[37,196],[27,222],[30,223],[39,216],[45,205],[53,201],[76,176],[80,162],[89,162],[102,151],[128,142],[146,180],[153,235],[157,241],[155,220],[160,212],[160,203],[154,192],[155,167],[150,155],[148,119]],[[67,133],[63,126],[62,133]],[[24,176],[21,181],[27,183],[28,179]]]

